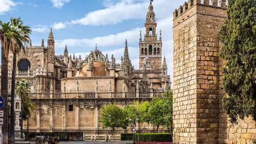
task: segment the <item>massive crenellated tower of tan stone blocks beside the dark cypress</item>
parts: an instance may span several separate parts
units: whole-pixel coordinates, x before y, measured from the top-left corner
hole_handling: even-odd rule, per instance
[[[226,13],[226,0],[189,0],[173,13],[174,144],[226,143],[218,56]]]

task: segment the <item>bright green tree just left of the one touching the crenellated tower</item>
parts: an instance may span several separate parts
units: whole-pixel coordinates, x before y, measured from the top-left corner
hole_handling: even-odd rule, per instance
[[[163,99],[153,98],[148,115],[150,117],[150,123],[157,125],[157,131],[159,126],[165,123],[165,118],[163,116],[165,114],[164,110]]]

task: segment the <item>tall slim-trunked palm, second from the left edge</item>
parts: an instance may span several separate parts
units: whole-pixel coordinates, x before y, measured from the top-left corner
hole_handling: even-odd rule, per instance
[[[25,45],[29,43],[31,34],[31,30],[29,26],[25,26],[21,21],[21,18],[11,18],[11,22],[14,22],[12,25],[13,30],[20,35],[22,38],[21,40],[16,40],[14,37],[11,38],[11,51],[13,52],[13,69],[11,74],[11,118],[10,118],[10,136],[11,136],[11,144],[15,143],[15,136],[14,136],[14,97],[15,97],[15,78],[16,78],[16,60],[17,60],[17,53],[21,50],[25,51]],[[24,44],[23,44],[24,43]]]

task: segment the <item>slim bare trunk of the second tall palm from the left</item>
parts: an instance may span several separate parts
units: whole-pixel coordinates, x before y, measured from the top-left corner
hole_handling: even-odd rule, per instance
[[[13,70],[11,72],[11,118],[10,118],[10,136],[11,144],[15,144],[14,136],[14,98],[15,98],[15,78],[16,78],[16,50],[13,52]]]

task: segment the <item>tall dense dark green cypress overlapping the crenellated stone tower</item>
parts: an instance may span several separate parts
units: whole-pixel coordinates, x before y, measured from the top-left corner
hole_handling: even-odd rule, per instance
[[[220,56],[226,60],[222,69],[222,106],[237,123],[251,115],[256,119],[256,1],[229,0],[227,18],[219,33]]]

